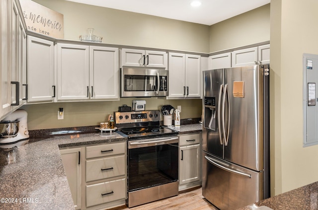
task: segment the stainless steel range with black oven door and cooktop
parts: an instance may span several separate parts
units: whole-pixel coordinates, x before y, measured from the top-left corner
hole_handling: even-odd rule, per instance
[[[178,195],[178,132],[159,125],[159,110],[115,112],[128,137],[127,206]]]

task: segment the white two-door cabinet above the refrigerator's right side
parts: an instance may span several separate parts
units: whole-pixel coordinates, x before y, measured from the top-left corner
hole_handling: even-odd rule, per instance
[[[232,52],[232,67],[269,64],[270,45],[262,45]]]

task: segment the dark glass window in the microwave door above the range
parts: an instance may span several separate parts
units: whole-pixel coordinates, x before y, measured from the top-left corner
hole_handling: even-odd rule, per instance
[[[125,91],[157,91],[157,76],[125,75]]]

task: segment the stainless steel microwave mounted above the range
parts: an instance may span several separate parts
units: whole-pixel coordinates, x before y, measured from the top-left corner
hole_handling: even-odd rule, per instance
[[[122,68],[121,97],[168,96],[168,71]]]

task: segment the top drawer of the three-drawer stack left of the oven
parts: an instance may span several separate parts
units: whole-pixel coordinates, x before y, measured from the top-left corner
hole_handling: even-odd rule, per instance
[[[86,147],[86,158],[105,157],[110,155],[124,154],[126,151],[126,142],[115,144],[103,144]]]

